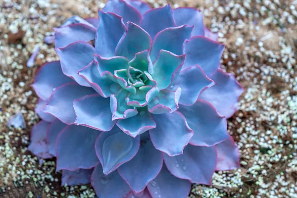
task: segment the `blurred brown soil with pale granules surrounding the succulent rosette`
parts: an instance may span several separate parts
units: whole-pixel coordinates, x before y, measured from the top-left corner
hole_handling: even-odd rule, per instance
[[[0,0],[0,198],[95,197],[91,185],[61,187],[55,159],[27,150],[39,121],[30,85],[43,63],[58,59],[44,40],[52,28],[73,15],[96,17],[105,2]],[[190,198],[297,198],[297,0],[148,2],[201,9],[226,45],[223,69],[246,89],[228,119],[241,168],[216,172],[212,186],[193,185]]]

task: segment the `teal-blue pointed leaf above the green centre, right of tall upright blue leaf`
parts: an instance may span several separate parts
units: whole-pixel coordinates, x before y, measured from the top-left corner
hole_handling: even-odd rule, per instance
[[[149,49],[149,34],[135,23],[128,22],[125,33],[115,48],[115,55],[132,60],[137,52]]]

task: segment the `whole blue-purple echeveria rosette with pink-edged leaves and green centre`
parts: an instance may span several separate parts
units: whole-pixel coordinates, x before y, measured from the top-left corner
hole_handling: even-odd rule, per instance
[[[226,117],[243,88],[220,69],[224,46],[199,10],[109,0],[99,19],[77,22],[54,29],[60,61],[32,85],[42,121],[29,150],[57,158],[62,184],[186,198],[191,183],[239,166]]]

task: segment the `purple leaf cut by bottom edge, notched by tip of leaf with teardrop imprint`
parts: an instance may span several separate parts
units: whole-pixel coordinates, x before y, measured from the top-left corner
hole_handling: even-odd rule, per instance
[[[117,171],[104,175],[101,164],[95,167],[91,184],[99,198],[126,198],[131,191]]]

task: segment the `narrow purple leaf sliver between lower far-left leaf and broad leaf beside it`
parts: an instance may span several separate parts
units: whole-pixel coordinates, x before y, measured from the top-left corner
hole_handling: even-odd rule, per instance
[[[57,137],[59,133],[66,126],[67,125],[61,122],[59,119],[55,119],[49,125],[48,131],[47,131],[48,148],[49,148],[49,153],[52,154],[53,156],[56,156],[55,143],[56,143]]]

